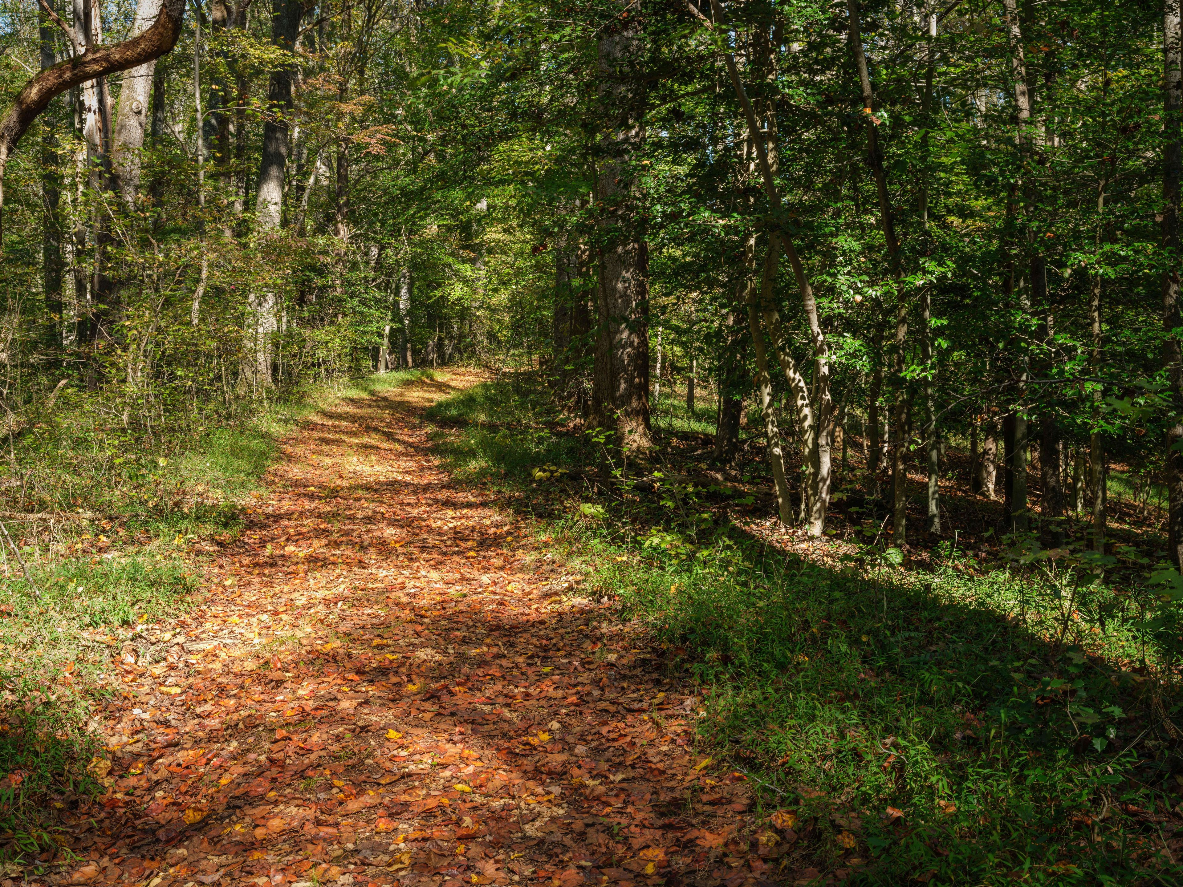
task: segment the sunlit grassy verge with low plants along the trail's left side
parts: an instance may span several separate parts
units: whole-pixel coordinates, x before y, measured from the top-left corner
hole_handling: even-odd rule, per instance
[[[318,386],[212,412],[207,427],[162,425],[151,441],[67,402],[12,441],[2,498],[35,519],[7,519],[13,545],[0,548],[0,854],[52,843],[46,814],[101,788],[88,770],[102,745],[89,718],[111,692],[112,659],[163,656],[200,587],[202,552],[238,532],[279,441],[338,399],[426,376]]]

